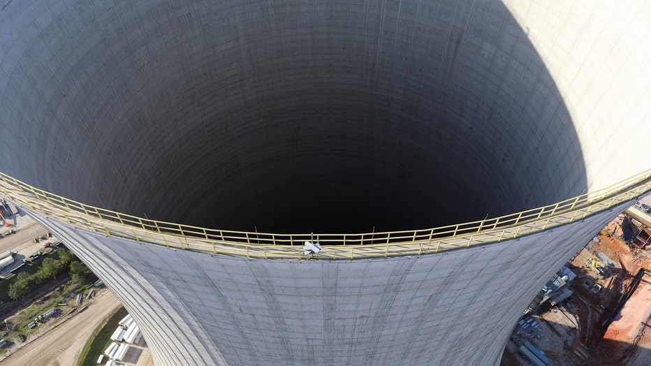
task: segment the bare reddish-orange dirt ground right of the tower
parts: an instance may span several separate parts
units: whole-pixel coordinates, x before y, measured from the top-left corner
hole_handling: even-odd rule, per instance
[[[641,321],[651,324],[651,275],[645,275],[634,295],[622,309],[621,316],[610,325],[608,330],[599,330],[598,326],[604,316],[602,314],[606,314],[599,305],[614,307],[620,294],[631,281],[631,277],[640,268],[651,269],[650,250],[631,251],[627,244],[615,237],[608,237],[603,231],[597,235],[597,238],[599,243],[590,242],[592,253],[582,251],[572,264],[582,267],[587,258],[596,256],[601,251],[615,261],[613,275],[604,279],[593,276],[590,270],[578,270],[579,278],[573,286],[575,293],[569,300],[569,304],[575,306],[568,305],[580,321],[580,332],[571,347],[584,349],[592,358],[583,363],[578,359],[565,360],[567,362],[559,362],[558,365],[574,365],[575,362],[578,362],[576,365],[651,365],[651,326],[641,324]],[[599,295],[590,293],[580,285],[581,278],[590,277],[593,282],[596,281],[604,286],[604,290]],[[613,342],[608,343],[608,339]],[[521,363],[509,351],[513,352],[513,350],[505,350],[502,358],[503,366],[526,364]],[[612,363],[613,360],[615,363]]]

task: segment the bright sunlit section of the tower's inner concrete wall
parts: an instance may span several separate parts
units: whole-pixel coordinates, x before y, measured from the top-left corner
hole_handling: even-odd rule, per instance
[[[541,55],[583,151],[588,190],[650,166],[651,8],[646,1],[504,1]],[[638,168],[639,167],[639,168]]]

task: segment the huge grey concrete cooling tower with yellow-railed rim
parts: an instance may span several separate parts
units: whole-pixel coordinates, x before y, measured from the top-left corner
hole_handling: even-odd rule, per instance
[[[156,365],[495,365],[650,189],[644,1],[0,5],[1,195]]]

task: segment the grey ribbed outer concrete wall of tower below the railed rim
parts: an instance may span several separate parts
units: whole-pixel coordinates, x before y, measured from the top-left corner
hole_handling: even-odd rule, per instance
[[[211,256],[39,221],[138,320],[156,365],[492,365],[541,286],[612,216],[356,261]]]

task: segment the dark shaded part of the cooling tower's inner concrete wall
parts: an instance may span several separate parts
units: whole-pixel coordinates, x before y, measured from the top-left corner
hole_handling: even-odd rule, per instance
[[[0,120],[20,131],[2,169],[83,203],[345,233],[592,183],[578,124],[594,120],[499,1],[29,1],[0,20]]]

